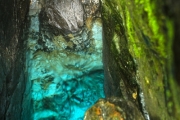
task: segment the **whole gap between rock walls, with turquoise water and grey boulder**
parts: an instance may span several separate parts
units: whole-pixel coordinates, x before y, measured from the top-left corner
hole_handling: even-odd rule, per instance
[[[104,98],[99,6],[31,0],[25,44],[33,120],[82,120]]]

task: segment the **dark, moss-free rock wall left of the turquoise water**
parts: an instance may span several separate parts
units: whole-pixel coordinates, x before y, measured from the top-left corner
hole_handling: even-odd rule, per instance
[[[28,9],[29,0],[0,1],[1,120],[21,120],[22,111],[28,110],[27,104],[22,106],[26,87],[22,33]]]

